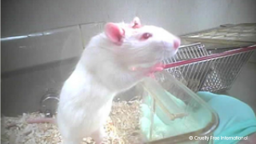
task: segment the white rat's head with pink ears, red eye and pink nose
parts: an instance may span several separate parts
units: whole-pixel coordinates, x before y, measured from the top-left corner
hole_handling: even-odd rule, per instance
[[[157,26],[142,26],[139,18],[130,24],[107,23],[107,41],[122,61],[134,64],[151,64],[176,54],[180,39]]]

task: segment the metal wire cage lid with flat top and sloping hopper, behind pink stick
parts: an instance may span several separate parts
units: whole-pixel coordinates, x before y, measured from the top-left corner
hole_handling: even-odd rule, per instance
[[[166,69],[175,78],[193,91],[204,90],[221,92],[230,89],[238,77],[242,66],[249,60],[256,47],[256,23],[220,26],[181,37],[184,42],[202,42],[183,46],[172,59],[166,59],[165,64],[188,60],[178,66]],[[226,51],[242,47],[254,46],[253,50],[239,51],[225,55]],[[206,58],[212,54],[224,54],[217,58],[204,61],[195,58]]]

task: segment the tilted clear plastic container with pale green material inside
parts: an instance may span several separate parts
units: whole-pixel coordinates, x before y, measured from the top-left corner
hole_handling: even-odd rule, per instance
[[[218,115],[171,74],[156,73],[138,86],[143,90],[140,126],[145,143],[213,143],[194,137],[212,136]]]

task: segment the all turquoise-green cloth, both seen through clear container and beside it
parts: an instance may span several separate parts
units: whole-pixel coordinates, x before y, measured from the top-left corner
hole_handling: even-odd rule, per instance
[[[190,114],[186,116],[186,118],[178,118],[174,121],[169,120],[170,122],[167,122],[167,117],[162,115],[162,112],[158,111],[157,108],[156,112],[158,111],[159,113],[157,113],[158,115],[154,114],[154,138],[163,138],[162,134],[164,134],[165,137],[185,134],[190,131],[198,130],[210,122],[210,115],[207,115],[209,112],[205,110],[204,107],[200,107],[198,110],[191,109],[191,111],[188,108],[193,107],[193,105],[186,106],[184,102],[175,98],[167,91],[162,93],[162,95],[170,98],[169,100],[165,99],[166,102],[173,102],[170,104],[170,110],[188,110]],[[218,128],[214,131],[214,137],[220,139],[214,140],[214,144],[238,143],[240,141],[238,138],[229,140],[224,138],[246,137],[256,132],[256,117],[254,111],[246,103],[227,95],[213,94],[210,92],[198,92],[198,96],[208,103],[218,114],[219,124]],[[150,137],[150,102],[151,98],[149,96],[141,106],[143,114],[141,127],[147,138]],[[198,122],[198,120],[200,122]]]

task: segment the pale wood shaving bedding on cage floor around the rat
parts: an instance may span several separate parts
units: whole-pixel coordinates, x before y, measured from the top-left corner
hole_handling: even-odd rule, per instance
[[[130,102],[113,102],[110,117],[104,128],[106,144],[141,143],[139,118],[140,104],[138,100]],[[58,127],[51,123],[28,124],[28,118],[45,117],[35,112],[18,117],[1,118],[2,144],[61,144],[62,137]],[[92,138],[83,138],[82,144],[94,144]]]

